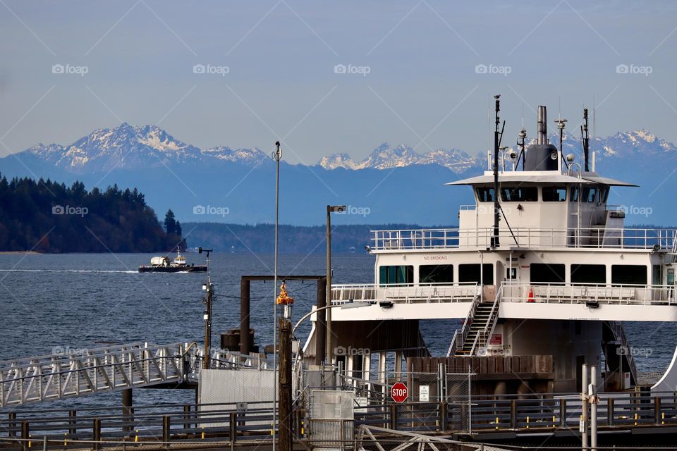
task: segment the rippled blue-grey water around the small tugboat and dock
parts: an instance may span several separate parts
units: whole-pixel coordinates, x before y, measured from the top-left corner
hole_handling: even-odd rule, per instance
[[[156,344],[204,340],[202,283],[205,273],[138,273],[152,254],[0,255],[4,343],[0,360],[51,354],[54,349],[86,350],[109,343]],[[187,254],[189,263],[204,256]],[[371,283],[374,259],[365,254],[332,257],[335,283]],[[322,275],[322,255],[283,255],[280,274]],[[273,273],[272,255],[213,254],[216,298],[212,343],[219,333],[239,326],[240,276]],[[288,283],[295,298],[294,317],[315,304],[313,282]],[[272,343],[273,284],[252,282],[251,326],[261,347]],[[456,320],[422,321],[425,342],[434,355],[449,346]],[[304,327],[305,326],[305,327]],[[310,330],[306,322],[297,335]],[[626,323],[640,371],[664,371],[677,343],[676,323]],[[34,407],[82,406],[119,402],[119,394],[94,395]],[[191,390],[135,390],[135,403],[193,402]]]

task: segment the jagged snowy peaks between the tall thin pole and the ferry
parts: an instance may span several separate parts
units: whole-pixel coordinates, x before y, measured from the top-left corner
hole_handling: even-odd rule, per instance
[[[328,170],[336,168],[391,169],[411,166],[413,164],[437,164],[455,172],[463,172],[477,166],[477,158],[457,149],[437,149],[425,154],[418,154],[414,149],[405,144],[400,144],[398,147],[391,149],[389,144],[384,142],[359,163],[350,159],[348,154],[333,154],[325,156],[318,164]]]

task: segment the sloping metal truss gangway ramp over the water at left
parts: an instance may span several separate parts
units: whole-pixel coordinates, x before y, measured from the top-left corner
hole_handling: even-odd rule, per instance
[[[134,342],[0,362],[0,407],[181,383],[184,343]]]

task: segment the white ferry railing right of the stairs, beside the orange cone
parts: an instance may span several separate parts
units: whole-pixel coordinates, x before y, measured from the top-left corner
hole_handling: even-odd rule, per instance
[[[674,285],[504,282],[501,302],[677,304]]]

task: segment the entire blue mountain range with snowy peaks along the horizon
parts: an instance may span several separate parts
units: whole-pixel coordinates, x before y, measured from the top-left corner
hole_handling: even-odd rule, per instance
[[[595,137],[591,147],[597,172],[642,185],[612,190],[609,202],[628,206],[627,223],[677,222],[666,208],[677,187],[675,144],[635,130]],[[563,148],[578,159],[580,137],[565,135]],[[347,204],[348,214],[337,221],[455,223],[458,205],[472,203],[472,193],[443,184],[486,170],[485,152],[453,147],[417,152],[405,144],[383,143],[361,161],[343,153],[309,165],[282,162],[281,222],[319,224],[327,204]],[[123,123],[66,146],[37,144],[1,158],[0,173],[67,184],[82,180],[88,188],[138,187],[159,214],[171,208],[182,222],[269,223],[274,218],[275,168],[266,152],[200,149],[155,125]],[[644,213],[633,216],[633,206],[644,207],[636,210]]]

